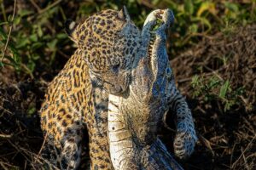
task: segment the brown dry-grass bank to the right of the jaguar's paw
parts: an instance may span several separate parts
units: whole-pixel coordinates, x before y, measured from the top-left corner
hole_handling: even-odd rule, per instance
[[[256,25],[218,33],[171,61],[178,88],[187,96],[195,118],[199,143],[185,169],[256,168]],[[227,56],[227,62],[219,58]],[[198,69],[200,68],[200,69]],[[191,77],[230,80],[233,89],[244,87],[239,102],[224,112],[218,99],[193,97]],[[209,78],[208,78],[209,79]]]

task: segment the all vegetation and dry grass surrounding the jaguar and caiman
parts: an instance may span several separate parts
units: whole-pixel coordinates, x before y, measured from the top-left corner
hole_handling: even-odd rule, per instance
[[[0,168],[36,168],[32,164],[38,161],[34,158],[38,142],[44,141],[38,121],[44,90],[75,50],[63,30],[65,20],[123,5],[139,27],[155,8],[171,8],[175,14],[168,53],[200,136],[195,154],[183,166],[256,166],[255,0],[0,0],[0,4]],[[172,136],[165,136],[170,150]]]

